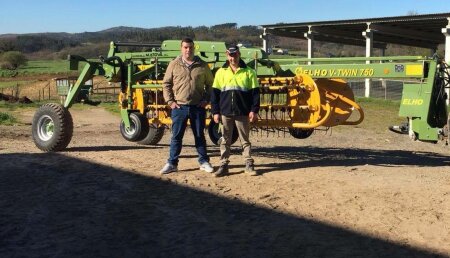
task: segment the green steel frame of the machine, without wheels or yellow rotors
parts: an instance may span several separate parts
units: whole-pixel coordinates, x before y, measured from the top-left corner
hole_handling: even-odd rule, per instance
[[[154,47],[148,52],[120,52],[119,47]],[[223,42],[198,42],[196,53],[210,64],[212,70],[218,69],[226,60],[226,47]],[[253,67],[259,77],[295,76],[307,74],[312,78],[374,79],[396,78],[415,80],[405,83],[399,115],[409,120],[409,133],[422,141],[437,141],[446,125],[446,95],[443,93],[444,63],[441,60],[421,56],[355,57],[355,58],[286,58],[268,59],[258,48],[242,48],[242,59]],[[164,41],[159,47],[152,44],[130,44],[111,42],[106,59],[92,62],[78,56],[71,56],[71,67],[78,68],[79,61],[86,65],[80,73],[76,85],[67,96],[64,107],[73,104],[73,97],[80,86],[93,75],[104,75],[109,81],[121,82],[122,92],[132,92],[131,88],[161,87],[158,84],[136,84],[140,79],[151,76],[158,79],[165,66],[179,55],[179,41]],[[369,62],[369,63],[368,63]],[[312,63],[312,64],[308,64]],[[135,65],[150,64],[148,68],[135,71]],[[121,80],[125,77],[125,80]],[[128,89],[128,90],[127,90]],[[132,96],[129,94],[121,109],[122,120],[130,126],[129,114],[132,110]]]

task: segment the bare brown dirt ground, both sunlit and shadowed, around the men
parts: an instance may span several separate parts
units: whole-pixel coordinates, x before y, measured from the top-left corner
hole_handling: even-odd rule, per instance
[[[119,118],[72,109],[66,151],[0,126],[0,257],[450,257],[450,146],[345,127],[305,140],[254,133],[231,174],[198,170],[187,131],[177,173]],[[212,164],[219,149],[210,145]]]

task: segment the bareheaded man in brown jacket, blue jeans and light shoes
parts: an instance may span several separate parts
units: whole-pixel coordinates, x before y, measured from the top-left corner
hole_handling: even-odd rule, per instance
[[[208,104],[213,75],[204,61],[194,55],[194,41],[181,41],[181,56],[169,63],[163,80],[164,100],[172,109],[172,138],[170,154],[161,174],[178,170],[187,121],[190,120],[198,153],[200,170],[212,173],[205,141],[205,106]]]

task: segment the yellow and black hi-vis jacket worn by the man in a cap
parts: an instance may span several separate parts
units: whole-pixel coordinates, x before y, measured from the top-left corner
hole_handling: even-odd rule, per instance
[[[255,70],[240,62],[233,73],[227,64],[215,75],[211,95],[211,113],[225,116],[246,116],[259,111],[259,84]]]

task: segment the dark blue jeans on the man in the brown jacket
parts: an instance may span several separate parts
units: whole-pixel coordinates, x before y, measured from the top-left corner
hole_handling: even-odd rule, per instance
[[[209,162],[209,157],[206,153],[206,140],[204,134],[206,110],[194,105],[181,105],[180,108],[172,109],[171,118],[172,139],[170,141],[170,154],[167,162],[172,165],[178,165],[188,119],[191,123],[192,132],[194,133],[198,162],[200,164]]]

